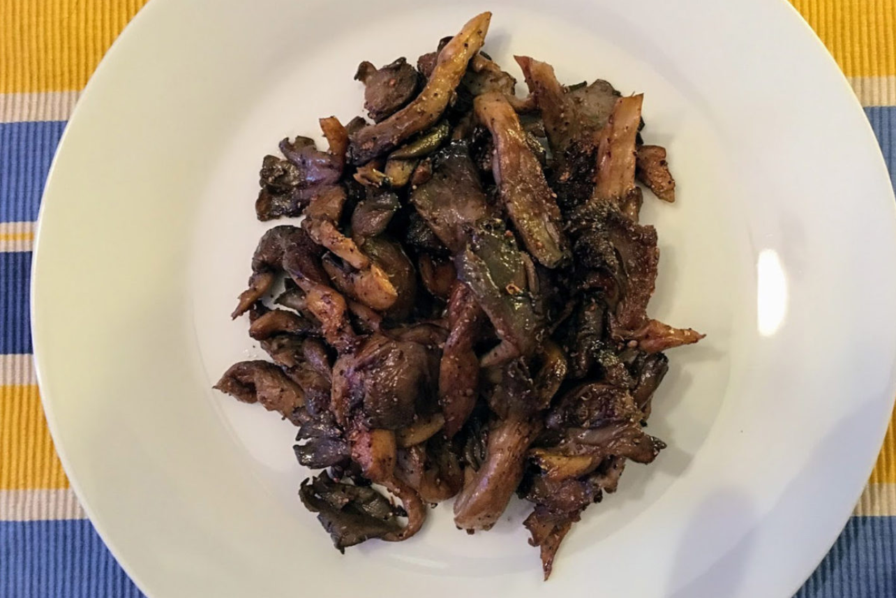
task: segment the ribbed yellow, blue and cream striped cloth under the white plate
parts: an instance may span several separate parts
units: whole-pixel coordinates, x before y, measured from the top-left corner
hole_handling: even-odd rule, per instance
[[[28,292],[32,231],[56,143],[99,58],[144,2],[0,0],[0,598],[142,595],[85,518],[56,458],[31,365]],[[793,2],[866,107],[896,184],[896,0]],[[896,597],[893,426],[854,516],[797,595]]]

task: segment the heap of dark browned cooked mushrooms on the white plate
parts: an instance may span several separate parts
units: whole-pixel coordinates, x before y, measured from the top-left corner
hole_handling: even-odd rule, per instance
[[[297,136],[263,158],[258,219],[304,220],[264,233],[232,314],[271,361],[215,387],[298,426],[298,463],[327,470],[299,497],[337,549],[406,540],[452,497],[487,530],[516,493],[547,578],[585,509],[666,446],[645,429],[662,351],[703,335],[647,311],[636,180],[668,202],[676,184],[642,96],[517,56],[516,97],[490,18],[416,69],[361,63],[373,124],[322,118],[325,151]]]

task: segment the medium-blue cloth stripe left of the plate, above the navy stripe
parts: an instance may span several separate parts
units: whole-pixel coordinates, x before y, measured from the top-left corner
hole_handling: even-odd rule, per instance
[[[65,122],[0,124],[0,222],[38,219],[40,195]]]

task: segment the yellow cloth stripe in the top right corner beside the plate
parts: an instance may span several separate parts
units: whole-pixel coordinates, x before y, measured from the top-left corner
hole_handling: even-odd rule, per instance
[[[896,74],[896,2],[790,0],[848,77]]]

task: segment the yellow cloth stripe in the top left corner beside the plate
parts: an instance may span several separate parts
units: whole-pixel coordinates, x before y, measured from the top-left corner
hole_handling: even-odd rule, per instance
[[[146,0],[0,0],[0,93],[80,90]]]

